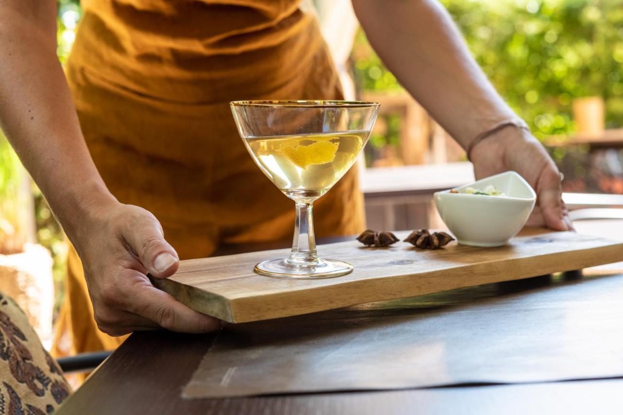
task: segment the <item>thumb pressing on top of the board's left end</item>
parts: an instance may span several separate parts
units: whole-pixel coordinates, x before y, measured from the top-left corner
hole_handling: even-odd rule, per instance
[[[151,275],[166,278],[178,270],[178,254],[164,240],[162,227],[151,213],[135,218],[135,222],[126,226],[123,236]]]

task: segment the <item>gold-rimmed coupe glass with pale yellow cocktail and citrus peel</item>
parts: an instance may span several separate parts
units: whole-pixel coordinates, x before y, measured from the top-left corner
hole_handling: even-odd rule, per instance
[[[376,120],[379,104],[358,101],[234,101],[240,137],[255,164],[296,204],[292,251],[255,271],[271,277],[328,278],[351,264],[320,258],[313,233],[314,200],[353,166]]]

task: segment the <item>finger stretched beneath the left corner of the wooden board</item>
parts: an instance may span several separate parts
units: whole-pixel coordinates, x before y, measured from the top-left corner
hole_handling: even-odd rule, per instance
[[[141,284],[133,294],[131,312],[146,317],[164,329],[207,333],[221,328],[221,320],[191,310],[151,284]]]

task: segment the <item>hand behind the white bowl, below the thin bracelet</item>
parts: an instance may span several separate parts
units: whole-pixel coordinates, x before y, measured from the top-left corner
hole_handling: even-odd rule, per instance
[[[558,167],[532,134],[504,128],[473,147],[472,162],[477,180],[514,170],[535,189],[536,205],[526,225],[573,230],[562,198]]]

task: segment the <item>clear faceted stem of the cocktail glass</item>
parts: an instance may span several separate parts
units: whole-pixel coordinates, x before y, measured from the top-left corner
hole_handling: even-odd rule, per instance
[[[287,261],[291,264],[310,265],[318,263],[316,239],[313,235],[313,204],[296,202],[297,219],[294,225],[292,252]]]

